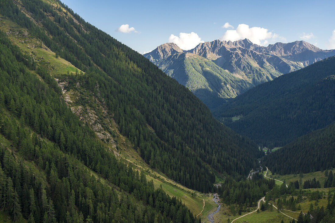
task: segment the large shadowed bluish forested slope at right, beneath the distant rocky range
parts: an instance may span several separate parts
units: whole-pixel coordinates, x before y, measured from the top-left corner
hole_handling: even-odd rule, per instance
[[[335,57],[261,84],[219,107],[214,115],[264,145],[282,146],[335,121]],[[242,115],[231,122],[228,117]]]

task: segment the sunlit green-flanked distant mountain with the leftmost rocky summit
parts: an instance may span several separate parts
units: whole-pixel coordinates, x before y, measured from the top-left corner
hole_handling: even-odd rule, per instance
[[[173,54],[156,65],[190,89],[209,108],[225,103],[226,99],[234,98],[253,86],[212,61],[191,53]]]

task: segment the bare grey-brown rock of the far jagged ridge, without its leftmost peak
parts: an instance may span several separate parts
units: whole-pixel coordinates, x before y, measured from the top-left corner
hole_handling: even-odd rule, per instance
[[[335,50],[321,50],[305,41],[276,43],[263,47],[253,44],[248,39],[235,42],[215,40],[201,43],[188,52],[212,60],[231,73],[239,74],[241,70],[247,76],[252,71],[245,69],[244,65],[250,67],[256,65],[265,69],[263,65],[267,62],[276,71],[284,74],[335,55]]]

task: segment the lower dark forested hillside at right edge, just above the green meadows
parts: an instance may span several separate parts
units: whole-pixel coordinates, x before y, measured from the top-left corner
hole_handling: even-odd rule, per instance
[[[335,86],[335,76],[330,76]],[[302,136],[264,157],[273,173],[308,173],[331,169],[335,165],[335,123]],[[331,185],[331,183],[330,183]]]

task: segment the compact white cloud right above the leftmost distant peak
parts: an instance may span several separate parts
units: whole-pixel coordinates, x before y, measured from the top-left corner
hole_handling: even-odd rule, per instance
[[[199,43],[205,43],[201,40],[197,33],[179,33],[179,37],[171,34],[169,37],[169,43],[175,43],[183,50],[191,50],[195,48]]]

